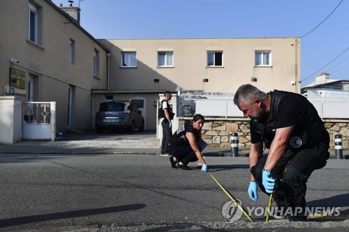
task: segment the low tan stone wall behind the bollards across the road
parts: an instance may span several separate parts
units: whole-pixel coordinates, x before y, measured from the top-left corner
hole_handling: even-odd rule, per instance
[[[192,118],[182,118],[179,123]],[[341,134],[343,150],[349,149],[349,122],[325,121],[325,127],[329,132],[331,139],[329,146],[334,149],[334,136]],[[228,118],[205,118],[205,124],[202,127],[202,139],[204,139],[208,148],[230,148],[230,135],[237,132],[239,135],[239,149],[250,148],[250,121],[239,120],[232,121]]]

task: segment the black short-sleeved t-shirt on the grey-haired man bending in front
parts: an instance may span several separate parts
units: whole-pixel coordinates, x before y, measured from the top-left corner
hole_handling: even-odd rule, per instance
[[[276,94],[279,95],[279,103],[276,104]],[[275,131],[278,128],[289,127],[295,125],[290,139],[299,138],[293,141],[292,146],[304,146],[308,144],[316,144],[318,141],[327,143],[328,132],[325,130],[320,116],[315,107],[297,93],[274,91],[269,93],[272,96],[270,104],[270,113],[265,123],[258,123],[251,120],[251,143],[256,144],[263,138],[267,138],[271,143],[274,139]],[[327,138],[328,137],[328,138]],[[300,143],[300,144],[299,144]],[[291,142],[290,142],[291,144]],[[267,144],[266,144],[267,145]]]

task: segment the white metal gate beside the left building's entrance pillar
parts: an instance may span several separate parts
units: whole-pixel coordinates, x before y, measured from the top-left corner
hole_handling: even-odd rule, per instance
[[[54,141],[56,102],[23,102],[22,139]]]

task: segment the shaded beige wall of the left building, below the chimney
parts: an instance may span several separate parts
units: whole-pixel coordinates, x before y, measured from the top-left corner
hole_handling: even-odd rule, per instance
[[[38,42],[29,41],[29,3],[38,12]],[[34,101],[57,102],[57,129],[68,127],[68,94],[72,93],[73,129],[91,128],[91,89],[107,88],[107,49],[49,0],[0,1],[0,95],[10,83],[10,68],[25,73]],[[73,63],[69,59],[74,41]],[[94,52],[99,73],[94,75]],[[15,58],[19,63],[11,63]],[[58,131],[58,130],[57,130]]]

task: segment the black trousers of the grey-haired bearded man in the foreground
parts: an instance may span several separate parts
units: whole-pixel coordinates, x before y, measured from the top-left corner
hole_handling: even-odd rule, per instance
[[[303,216],[306,207],[306,182],[315,169],[325,167],[328,158],[327,149],[318,151],[316,148],[310,148],[298,153],[287,150],[272,170],[272,177],[276,178],[277,184],[274,199],[278,207],[283,207],[284,210],[291,208],[288,212],[297,212],[297,215]],[[262,192],[265,192],[262,185],[262,169],[266,160],[267,155],[262,155],[258,164],[251,168],[251,173]]]

